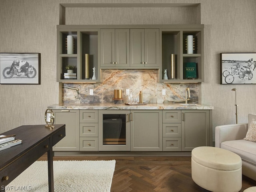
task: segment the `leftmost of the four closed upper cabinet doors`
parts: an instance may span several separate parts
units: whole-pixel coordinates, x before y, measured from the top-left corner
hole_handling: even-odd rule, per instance
[[[100,30],[100,65],[102,67],[115,66],[115,30]]]

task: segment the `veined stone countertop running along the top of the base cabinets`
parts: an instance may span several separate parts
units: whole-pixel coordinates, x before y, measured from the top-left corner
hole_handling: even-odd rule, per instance
[[[188,104],[182,105],[180,103],[148,103],[146,105],[126,105],[122,101],[114,103],[60,103],[48,106],[49,109],[108,109],[108,110],[213,110],[213,106],[206,106],[204,104]]]

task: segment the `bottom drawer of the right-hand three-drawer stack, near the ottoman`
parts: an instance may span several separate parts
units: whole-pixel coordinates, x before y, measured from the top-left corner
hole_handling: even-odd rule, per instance
[[[181,151],[181,138],[163,138],[163,151]]]

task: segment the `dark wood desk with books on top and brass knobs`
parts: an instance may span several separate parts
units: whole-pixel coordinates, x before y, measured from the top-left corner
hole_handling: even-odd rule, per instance
[[[47,152],[49,192],[54,192],[52,146],[65,135],[65,124],[55,124],[50,130],[45,125],[23,125],[1,135],[16,134],[22,144],[0,151],[0,192],[5,191],[14,178]]]

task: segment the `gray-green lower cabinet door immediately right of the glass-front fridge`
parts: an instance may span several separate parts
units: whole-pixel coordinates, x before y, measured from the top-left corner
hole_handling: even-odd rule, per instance
[[[162,111],[131,110],[131,151],[162,151]]]

